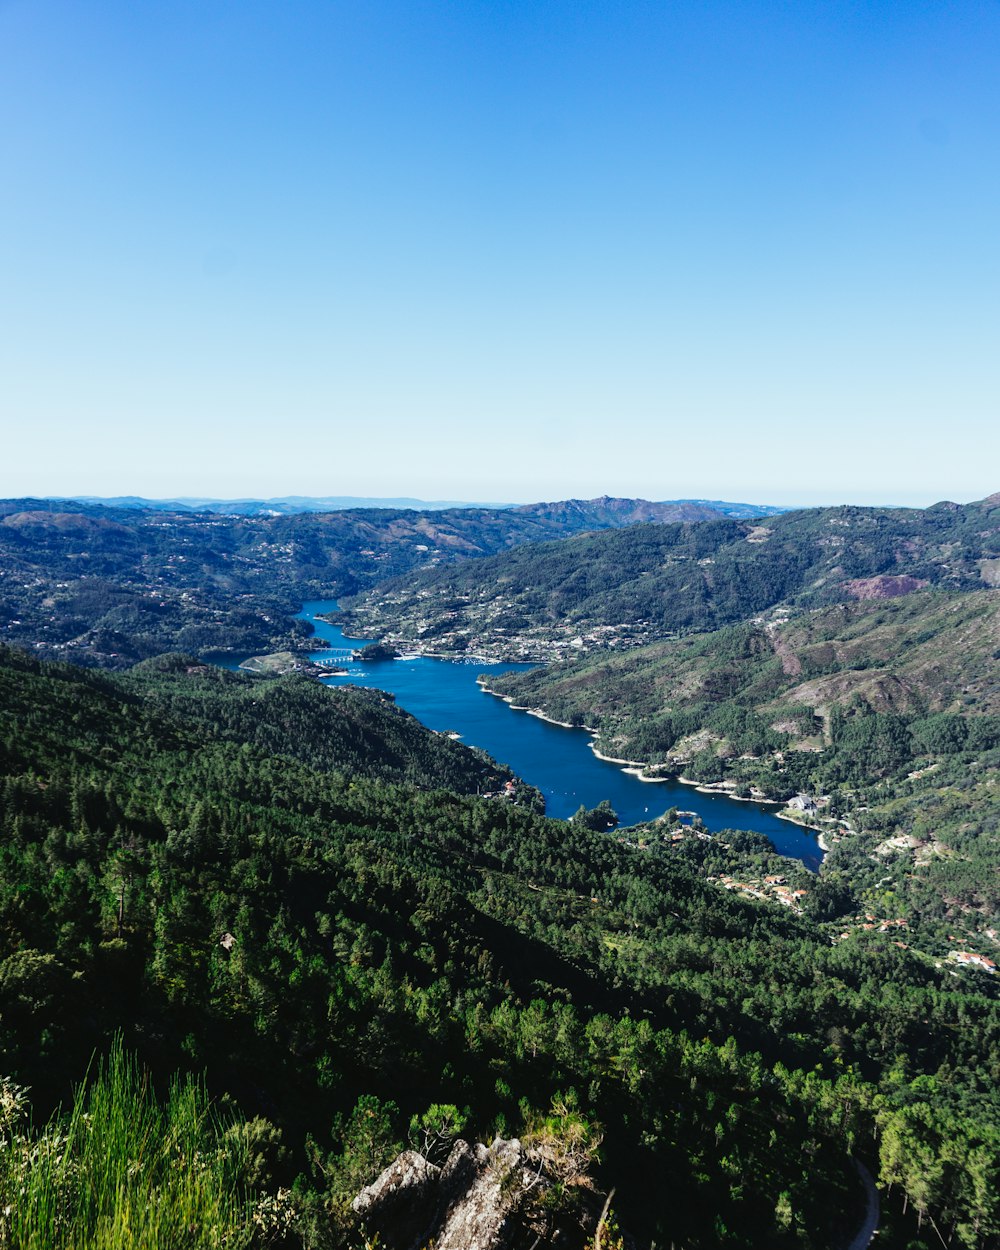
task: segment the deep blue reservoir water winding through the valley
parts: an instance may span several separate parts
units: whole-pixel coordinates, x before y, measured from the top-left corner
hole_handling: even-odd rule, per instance
[[[531,665],[429,656],[352,661],[346,652],[364,646],[370,639],[346,638],[340,626],[319,620],[321,614],[336,609],[332,600],[315,600],[304,604],[299,614],[300,620],[312,625],[318,642],[324,644],[310,658],[348,670],[342,676],[325,678],[328,685],[351,684],[388,691],[400,708],[429,729],[456,732],[466,745],[480,746],[509,765],[542,792],[550,816],[565,820],[580,804],[594,808],[608,799],[621,824],[634,825],[652,820],[668,808],[679,808],[698,812],[712,832],[751,829],[766,834],[781,855],[799,859],[808,868],[819,868],[822,852],[815,835],[779,820],[772,808],[701,794],[679,781],[640,781],[618,765],[598,759],[590,750],[590,735],[585,730],[564,729],[518,711],[476,684],[480,674],[489,679],[490,674]]]

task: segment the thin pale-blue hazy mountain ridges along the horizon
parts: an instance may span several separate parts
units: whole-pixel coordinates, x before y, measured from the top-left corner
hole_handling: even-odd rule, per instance
[[[292,516],[300,512],[340,512],[359,508],[409,509],[418,512],[440,512],[454,508],[489,508],[511,511],[530,511],[555,516],[560,511],[575,510],[580,514],[602,512],[610,524],[661,520],[708,520],[711,516],[734,516],[740,520],[755,516],[776,516],[791,509],[769,504],[731,504],[710,499],[675,499],[650,502],[645,499],[611,499],[602,495],[591,500],[566,500],[555,504],[478,504],[462,500],[428,499],[376,499],[362,495],[281,495],[278,499],[144,499],[140,495],[50,495],[51,502],[98,504],[104,508],[145,509],[162,512],[220,512],[226,516]],[[624,521],[622,516],[629,520]]]

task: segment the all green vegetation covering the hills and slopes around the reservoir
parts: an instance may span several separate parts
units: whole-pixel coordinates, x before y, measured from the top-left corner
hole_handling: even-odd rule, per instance
[[[522,1135],[552,1201],[614,1186],[640,1245],[829,1250],[851,1155],[884,1245],[998,1244],[998,500],[538,542],[619,505],[0,505],[35,651],[0,649],[2,1244],[339,1250],[405,1141],[459,1132]],[[294,665],[302,598],[402,572],[359,632],[572,654],[492,684],[609,755],[799,795],[821,874],[546,820],[385,695],[192,658]]]

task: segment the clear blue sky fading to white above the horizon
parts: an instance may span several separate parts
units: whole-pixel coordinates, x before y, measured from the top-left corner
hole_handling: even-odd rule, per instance
[[[0,0],[0,494],[1000,490],[1000,4]]]

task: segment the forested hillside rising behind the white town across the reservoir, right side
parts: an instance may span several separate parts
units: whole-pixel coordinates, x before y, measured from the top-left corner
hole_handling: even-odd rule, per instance
[[[1000,580],[1000,498],[640,525],[390,580],[344,604],[361,636],[519,659],[716,629],[778,606]]]

